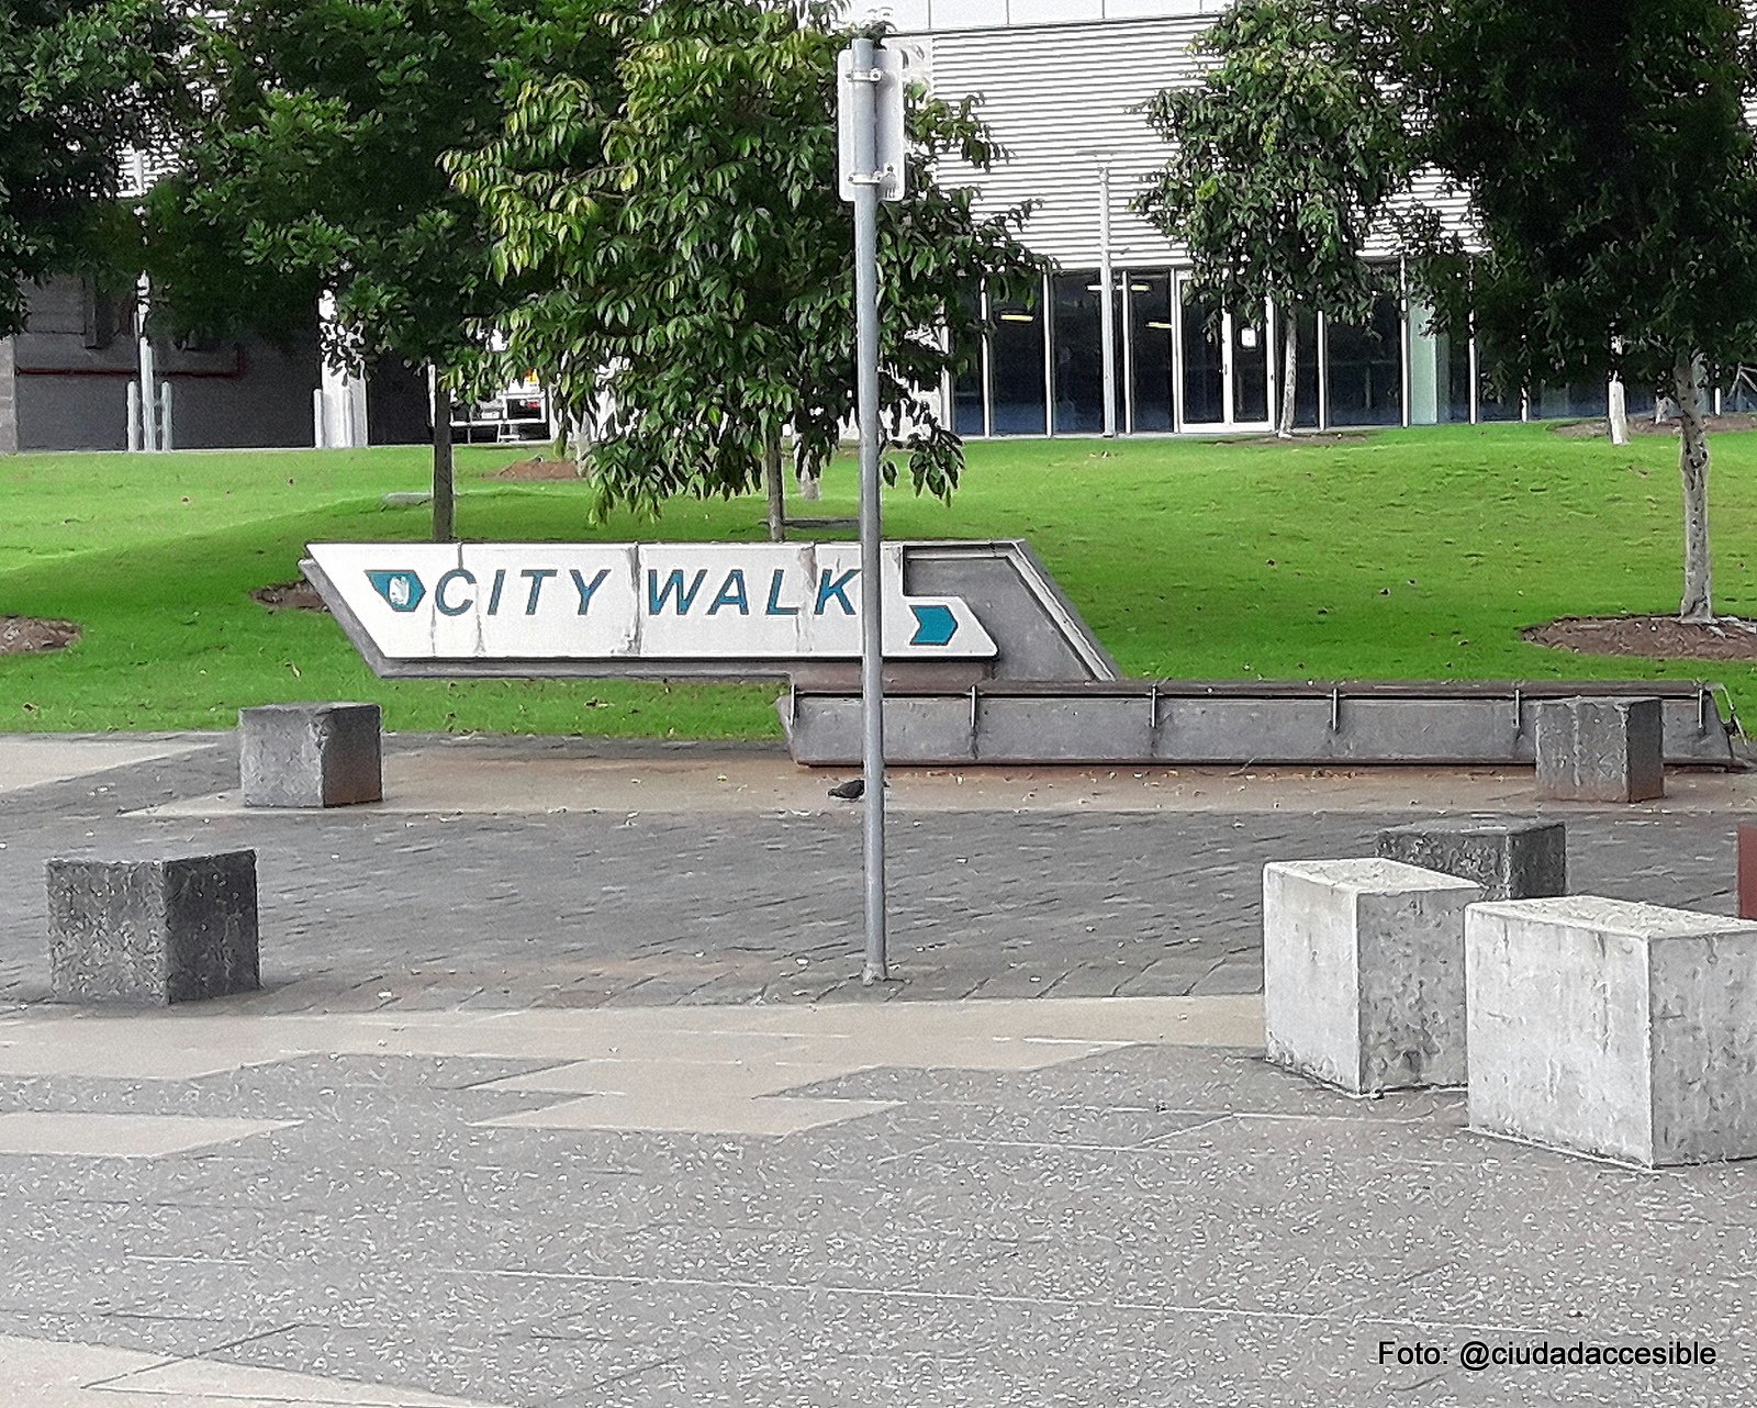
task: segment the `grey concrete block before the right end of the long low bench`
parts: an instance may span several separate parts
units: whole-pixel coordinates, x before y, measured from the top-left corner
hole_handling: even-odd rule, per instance
[[[1659,700],[1557,700],[1537,710],[1537,796],[1646,802],[1666,795]]]

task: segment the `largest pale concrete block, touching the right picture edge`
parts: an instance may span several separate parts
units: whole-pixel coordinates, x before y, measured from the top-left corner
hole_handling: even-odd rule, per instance
[[[1636,1164],[1757,1157],[1757,923],[1590,895],[1471,909],[1471,1123]]]

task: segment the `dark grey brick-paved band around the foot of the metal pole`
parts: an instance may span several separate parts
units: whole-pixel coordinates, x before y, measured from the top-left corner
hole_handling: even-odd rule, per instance
[[[216,744],[179,763],[105,773],[102,796],[69,784],[9,798],[0,1000],[47,991],[33,872],[56,849],[100,837],[118,847],[255,847],[269,991],[249,1004],[302,1011],[1251,991],[1262,865],[1370,854],[1383,826],[1407,821],[901,814],[901,981],[873,995],[854,981],[854,816],[116,816],[179,786],[227,786],[225,766]],[[1581,814],[1571,830],[1580,889],[1734,907],[1732,817]],[[671,858],[657,874],[655,853]]]

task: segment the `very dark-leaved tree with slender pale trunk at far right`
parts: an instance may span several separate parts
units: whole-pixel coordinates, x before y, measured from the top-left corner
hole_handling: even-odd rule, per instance
[[[1713,619],[1706,369],[1757,348],[1739,0],[1385,0],[1388,81],[1471,239],[1414,274],[1502,390],[1602,378],[1680,408],[1683,621]]]

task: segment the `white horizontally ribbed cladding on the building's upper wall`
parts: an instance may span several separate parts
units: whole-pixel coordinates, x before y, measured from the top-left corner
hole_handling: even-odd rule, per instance
[[[980,97],[982,118],[1009,153],[991,172],[949,171],[945,179],[977,186],[982,213],[1038,202],[1024,227],[1026,243],[1063,265],[1095,265],[1103,156],[1110,167],[1112,260],[1182,260],[1177,244],[1130,209],[1167,156],[1139,109],[1161,88],[1200,79],[1209,60],[1193,46],[1212,21],[1211,14],[1186,14],[912,37],[928,54],[935,91]],[[1444,190],[1437,178],[1420,181],[1416,193],[1451,227],[1469,229],[1462,193]],[[1369,253],[1392,255],[1395,248],[1386,232]]]

